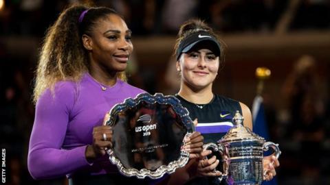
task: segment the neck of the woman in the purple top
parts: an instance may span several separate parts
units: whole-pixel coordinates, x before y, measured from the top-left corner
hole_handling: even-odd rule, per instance
[[[115,82],[117,82],[117,73],[116,72],[107,72],[100,67],[91,66],[89,69],[89,74],[93,77],[96,81],[104,86],[113,86]]]

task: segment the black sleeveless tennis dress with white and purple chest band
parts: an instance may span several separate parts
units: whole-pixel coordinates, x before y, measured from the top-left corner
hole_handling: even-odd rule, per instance
[[[204,137],[204,143],[217,143],[233,126],[232,118],[237,110],[242,114],[239,101],[223,97],[221,95],[214,95],[210,103],[196,104],[187,101],[179,95],[175,95],[182,106],[187,108],[189,116],[193,120],[198,120],[196,131],[201,132]],[[221,170],[221,164],[218,167]],[[226,184],[225,180],[219,182],[217,177],[197,177],[187,184]]]

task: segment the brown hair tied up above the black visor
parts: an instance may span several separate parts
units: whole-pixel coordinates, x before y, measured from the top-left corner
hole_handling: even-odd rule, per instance
[[[201,21],[199,19],[191,19],[181,25],[179,33],[177,34],[177,40],[175,42],[174,55],[175,53],[177,53],[177,49],[179,48],[179,45],[182,40],[184,40],[191,34],[201,31],[208,32],[208,34],[216,38],[217,41],[220,43],[219,69],[222,69],[225,64],[225,50],[227,49],[227,46],[225,45],[225,42],[223,42],[223,40],[221,40],[217,36],[217,34],[214,33],[211,27],[209,27],[206,23],[204,23],[204,21]]]

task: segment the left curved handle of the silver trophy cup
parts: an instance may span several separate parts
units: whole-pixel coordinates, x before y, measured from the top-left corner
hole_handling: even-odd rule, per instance
[[[207,143],[203,145],[203,151],[206,151],[207,149],[213,149],[213,151],[219,152],[223,158],[223,172],[221,172],[222,174],[218,177],[218,179],[221,181],[223,178],[226,178],[228,176],[229,164],[228,157],[225,155],[225,147],[223,147],[223,145]],[[205,157],[205,159],[208,159],[208,157]],[[215,172],[216,170],[214,169],[213,171]]]

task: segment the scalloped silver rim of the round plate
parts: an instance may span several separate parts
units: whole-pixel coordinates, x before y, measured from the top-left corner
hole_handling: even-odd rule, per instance
[[[150,95],[149,93],[141,93],[135,97],[135,99],[125,99],[124,103],[118,103],[111,108],[109,111],[110,115],[116,115],[119,112],[125,111],[129,108],[133,108],[138,103],[146,101],[147,103],[159,103],[159,104],[166,104],[172,106],[175,113],[180,116],[182,122],[184,123],[184,126],[187,129],[185,138],[189,137],[192,132],[195,131],[195,126],[192,123],[192,120],[189,117],[189,112],[186,108],[181,106],[181,103],[179,99],[172,95],[166,95],[164,96],[162,93],[155,93],[155,95]],[[106,121],[106,125],[112,126],[115,124],[115,116],[110,116],[109,120]],[[185,145],[186,142],[182,141],[182,145]],[[189,152],[185,151],[181,147],[181,155],[178,160],[175,160],[173,162],[170,162],[168,165],[162,165],[155,171],[151,171],[148,169],[133,169],[133,168],[126,168],[123,166],[122,162],[118,158],[116,158],[113,149],[106,149],[107,154],[109,155],[109,160],[112,164],[115,164],[118,167],[118,170],[120,173],[126,176],[136,176],[139,179],[144,179],[145,177],[150,177],[151,179],[158,179],[162,177],[165,173],[173,173],[175,169],[179,167],[184,167],[184,165],[187,164],[189,160]]]

